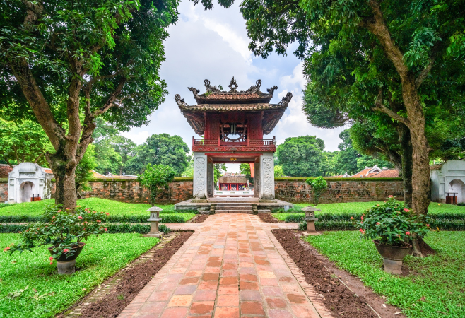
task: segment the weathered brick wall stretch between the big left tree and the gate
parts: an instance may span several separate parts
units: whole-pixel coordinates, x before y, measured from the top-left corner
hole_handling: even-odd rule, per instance
[[[139,186],[139,182],[133,180],[112,180],[103,179],[89,182],[92,188],[83,195],[86,198],[95,197],[116,201],[146,203],[148,201],[148,191]],[[157,203],[175,204],[177,202],[192,199],[192,179],[181,179],[170,183],[170,189],[158,194]]]

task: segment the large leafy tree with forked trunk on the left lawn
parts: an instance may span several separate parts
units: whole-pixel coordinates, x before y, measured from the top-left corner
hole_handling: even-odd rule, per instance
[[[1,117],[34,119],[54,151],[55,201],[76,206],[74,175],[93,141],[95,119],[117,129],[147,123],[164,100],[158,76],[166,28],[178,1],[0,3]],[[143,74],[143,76],[141,76]]]

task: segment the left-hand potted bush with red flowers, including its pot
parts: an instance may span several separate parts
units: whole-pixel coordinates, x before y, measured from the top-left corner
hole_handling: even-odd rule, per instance
[[[70,275],[76,271],[76,258],[86,244],[82,241],[107,232],[102,225],[107,215],[81,206],[63,211],[61,206],[49,205],[45,208],[44,222],[33,223],[20,232],[21,242],[10,250],[32,252],[33,247],[52,245],[48,247],[50,265],[56,260],[58,273]]]

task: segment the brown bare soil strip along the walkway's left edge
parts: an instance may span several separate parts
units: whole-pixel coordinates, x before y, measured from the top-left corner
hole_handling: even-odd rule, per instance
[[[142,288],[151,281],[153,276],[170,260],[172,255],[182,247],[192,233],[190,231],[173,233],[172,235],[175,238],[166,242],[163,247],[158,248],[157,245],[146,254],[141,255],[131,265],[122,269],[102,284],[103,288],[100,286],[98,290],[90,293],[84,300],[79,302],[81,305],[73,308],[73,313],[75,314],[69,314],[70,311],[66,310],[66,313],[60,317],[117,317]],[[128,246],[128,248],[130,247]]]

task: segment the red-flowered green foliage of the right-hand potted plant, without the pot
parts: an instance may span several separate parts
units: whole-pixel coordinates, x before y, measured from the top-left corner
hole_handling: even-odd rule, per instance
[[[360,222],[354,222],[362,237],[379,239],[384,245],[405,246],[410,240],[424,237],[430,230],[426,216],[418,216],[394,196],[384,204],[368,209]]]

